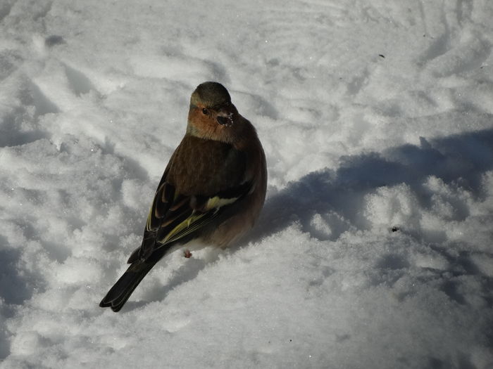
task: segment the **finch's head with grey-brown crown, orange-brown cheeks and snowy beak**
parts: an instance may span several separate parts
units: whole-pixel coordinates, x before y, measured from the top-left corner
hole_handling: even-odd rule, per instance
[[[216,141],[232,142],[239,127],[239,114],[230,93],[218,82],[199,84],[190,98],[187,133]]]

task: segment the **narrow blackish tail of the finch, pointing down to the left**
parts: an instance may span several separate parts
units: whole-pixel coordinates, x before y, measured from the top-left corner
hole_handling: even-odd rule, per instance
[[[157,261],[157,260],[156,260]],[[101,307],[111,307],[113,311],[120,311],[130,294],[134,292],[135,287],[139,285],[142,278],[146,276],[151,268],[156,264],[156,261],[149,260],[137,260],[132,263],[108,291],[104,299],[101,300],[99,306]]]

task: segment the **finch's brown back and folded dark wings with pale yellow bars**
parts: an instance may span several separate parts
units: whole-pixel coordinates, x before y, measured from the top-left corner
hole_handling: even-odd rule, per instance
[[[210,153],[215,160],[190,161],[189,158],[197,157],[202,152]],[[189,164],[175,165],[176,157]],[[202,178],[201,174],[214,171],[216,162],[223,163],[223,169],[217,176],[207,180]],[[146,259],[162,247],[169,247],[187,236],[193,237],[193,233],[210,224],[224,209],[251,193],[253,184],[243,177],[245,162],[246,155],[229,144],[185,136],[173,153],[156,190],[142,245],[130,259]],[[188,181],[183,181],[183,178]],[[225,187],[224,183],[235,185]],[[204,193],[196,194],[196,188],[204,188]],[[213,188],[220,190],[211,193]]]

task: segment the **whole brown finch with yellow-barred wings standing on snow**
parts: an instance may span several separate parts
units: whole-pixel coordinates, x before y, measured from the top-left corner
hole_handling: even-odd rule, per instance
[[[256,129],[223,84],[199,84],[190,97],[185,136],[149,209],[142,245],[99,306],[120,311],[151,268],[177,249],[194,243],[224,249],[238,242],[256,223],[266,187],[266,155]]]

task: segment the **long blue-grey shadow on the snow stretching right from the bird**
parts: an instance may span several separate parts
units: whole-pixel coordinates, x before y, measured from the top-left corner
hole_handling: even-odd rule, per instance
[[[482,174],[493,168],[493,129],[434,138],[420,138],[420,145],[402,145],[383,153],[367,153],[342,157],[338,169],[323,169],[292,181],[268,196],[263,212],[254,230],[234,253],[249,242],[272,235],[297,222],[303,231],[320,240],[337,240],[349,227],[368,228],[363,216],[365,196],[382,186],[404,183],[424,207],[431,206],[429,190],[423,183],[428,176],[442,179],[444,183],[456,182],[467,188],[473,196],[481,198],[484,188]],[[315,214],[337,214],[327,218],[332,233],[320,235],[311,226]],[[341,221],[341,218],[345,221]],[[393,225],[389,224],[389,228]],[[218,255],[206,259],[189,259],[178,268],[164,288],[156,287],[147,294],[147,301],[162,301],[170,290],[196,278],[202,269]],[[146,302],[127,304],[125,310],[143,306]]]

